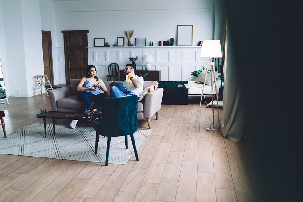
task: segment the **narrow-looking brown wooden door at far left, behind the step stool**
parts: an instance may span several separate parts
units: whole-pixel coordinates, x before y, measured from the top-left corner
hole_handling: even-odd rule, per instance
[[[54,85],[52,36],[50,31],[41,31],[44,74],[47,75],[51,85]]]

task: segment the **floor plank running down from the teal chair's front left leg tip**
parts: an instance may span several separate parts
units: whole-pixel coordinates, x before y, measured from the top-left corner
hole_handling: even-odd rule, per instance
[[[102,166],[77,194],[79,198],[94,198],[118,165]]]

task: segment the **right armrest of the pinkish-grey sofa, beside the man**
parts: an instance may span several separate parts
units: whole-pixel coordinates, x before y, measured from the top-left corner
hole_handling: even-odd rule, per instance
[[[157,88],[155,91],[147,94],[144,101],[144,118],[151,118],[157,111],[161,109],[163,97],[163,88]]]

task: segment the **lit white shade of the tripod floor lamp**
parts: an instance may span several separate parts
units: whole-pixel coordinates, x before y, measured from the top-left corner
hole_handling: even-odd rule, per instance
[[[201,48],[201,58],[222,58],[220,40],[204,40]]]

